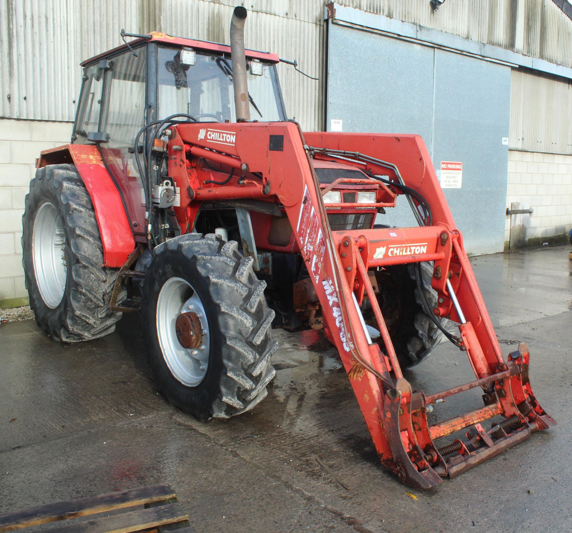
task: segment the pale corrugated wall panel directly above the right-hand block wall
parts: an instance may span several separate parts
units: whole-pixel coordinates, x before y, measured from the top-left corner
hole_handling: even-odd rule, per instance
[[[513,70],[510,148],[572,154],[572,81]]]

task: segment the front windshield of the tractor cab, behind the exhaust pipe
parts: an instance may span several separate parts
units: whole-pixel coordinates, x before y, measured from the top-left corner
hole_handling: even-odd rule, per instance
[[[158,49],[158,118],[186,113],[202,122],[235,122],[231,60],[197,53],[194,65],[184,65],[180,57],[179,49]],[[284,120],[274,65],[247,62],[251,119]]]

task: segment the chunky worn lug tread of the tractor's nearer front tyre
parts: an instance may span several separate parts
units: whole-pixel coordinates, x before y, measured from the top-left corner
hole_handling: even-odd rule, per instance
[[[271,357],[277,342],[272,340],[274,311],[264,299],[265,283],[252,269],[253,260],[244,257],[234,241],[224,242],[215,234],[186,234],[157,246],[153,262],[163,254],[181,252],[194,264],[207,282],[210,298],[217,314],[217,325],[223,335],[219,392],[209,413],[197,413],[185,405],[184,398],[169,390],[163,392],[169,401],[200,419],[228,418],[258,404],[267,394],[267,385],[275,376]],[[176,261],[166,257],[165,262]],[[148,305],[144,281],[142,307]]]

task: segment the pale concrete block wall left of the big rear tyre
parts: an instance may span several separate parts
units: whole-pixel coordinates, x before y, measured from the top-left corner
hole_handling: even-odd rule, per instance
[[[67,144],[71,123],[0,119],[0,307],[26,305],[22,269],[24,198],[39,152]]]

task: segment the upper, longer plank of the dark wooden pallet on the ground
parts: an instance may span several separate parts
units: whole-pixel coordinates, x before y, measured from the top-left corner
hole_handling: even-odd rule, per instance
[[[29,507],[21,511],[1,514],[0,532],[14,531],[23,527],[38,526],[38,524],[57,522],[57,520],[70,519],[76,516],[93,515],[124,507],[134,507],[145,503],[163,502],[169,498],[176,498],[175,491],[170,485],[162,484],[111,492],[101,496],[70,500],[69,502]]]

